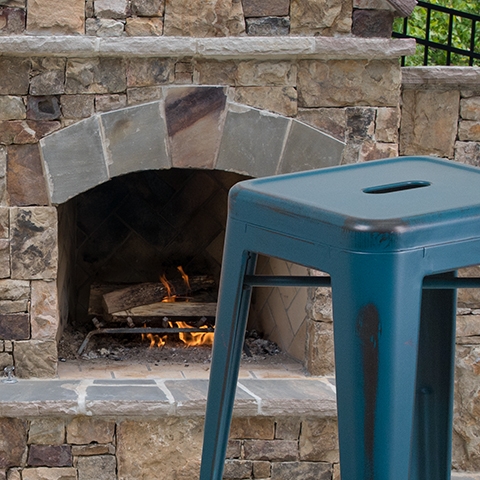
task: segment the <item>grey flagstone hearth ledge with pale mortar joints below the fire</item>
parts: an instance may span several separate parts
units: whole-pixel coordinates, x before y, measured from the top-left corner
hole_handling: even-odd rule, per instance
[[[0,384],[3,417],[203,416],[208,380],[19,380]],[[335,417],[332,378],[241,379],[235,416]]]

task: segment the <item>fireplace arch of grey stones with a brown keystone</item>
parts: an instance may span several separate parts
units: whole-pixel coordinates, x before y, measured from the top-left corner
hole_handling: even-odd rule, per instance
[[[96,114],[40,142],[52,204],[119,175],[199,168],[263,177],[340,164],[344,143],[233,103],[223,86],[168,86],[157,101]]]

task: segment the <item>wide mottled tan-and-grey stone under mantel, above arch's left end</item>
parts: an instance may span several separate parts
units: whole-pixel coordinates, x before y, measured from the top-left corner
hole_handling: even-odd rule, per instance
[[[119,58],[69,59],[65,93],[119,93],[127,87],[125,62]]]

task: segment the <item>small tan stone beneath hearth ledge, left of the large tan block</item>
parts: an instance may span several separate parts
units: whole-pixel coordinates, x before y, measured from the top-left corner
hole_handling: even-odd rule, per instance
[[[67,443],[88,445],[110,443],[115,434],[115,422],[92,417],[76,417],[67,424]]]

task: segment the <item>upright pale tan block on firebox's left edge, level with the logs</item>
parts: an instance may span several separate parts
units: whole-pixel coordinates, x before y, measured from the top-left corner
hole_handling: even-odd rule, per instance
[[[32,282],[30,319],[32,339],[56,339],[59,311],[55,281],[36,280]]]

